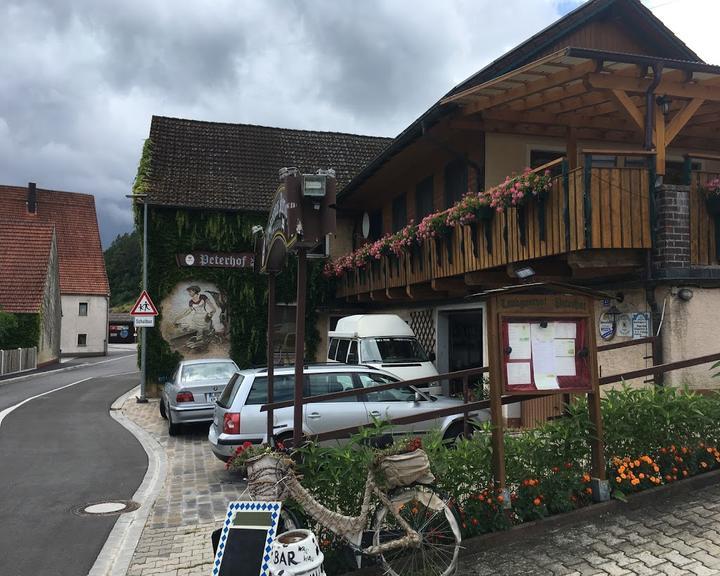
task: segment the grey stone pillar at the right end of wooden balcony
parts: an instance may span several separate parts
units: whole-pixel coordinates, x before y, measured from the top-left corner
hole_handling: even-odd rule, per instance
[[[690,267],[690,187],[663,184],[655,189],[655,270]]]

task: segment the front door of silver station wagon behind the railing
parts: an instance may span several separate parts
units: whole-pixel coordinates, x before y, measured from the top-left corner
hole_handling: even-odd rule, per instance
[[[394,388],[392,390],[381,390],[380,392],[372,391],[375,386],[396,382],[395,378],[373,372],[360,372],[357,376],[363,388],[367,391],[365,394],[365,407],[370,421],[373,419],[382,421],[414,416],[434,408],[434,402],[428,400],[416,401],[415,392],[409,388]],[[412,424],[394,424],[392,434],[393,436],[403,436],[413,432],[423,433],[436,424],[435,420],[425,420]]]

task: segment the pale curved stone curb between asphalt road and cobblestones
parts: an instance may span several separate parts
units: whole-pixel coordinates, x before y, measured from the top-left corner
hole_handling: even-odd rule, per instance
[[[167,474],[165,450],[155,438],[122,413],[125,402],[138,391],[139,386],[117,398],[110,407],[110,416],[137,438],[148,456],[147,472],[132,498],[140,504],[140,507],[134,512],[118,516],[88,576],[125,576],[147,518],[165,482]]]

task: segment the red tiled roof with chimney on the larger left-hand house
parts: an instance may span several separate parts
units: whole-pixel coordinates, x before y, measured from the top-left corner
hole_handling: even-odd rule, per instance
[[[29,214],[27,188],[0,186],[0,219],[55,225],[61,294],[110,294],[94,196],[38,188]]]

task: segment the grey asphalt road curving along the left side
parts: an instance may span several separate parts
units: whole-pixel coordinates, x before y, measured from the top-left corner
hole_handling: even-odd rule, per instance
[[[134,354],[115,350],[77,364],[0,382],[3,576],[87,574],[117,516],[73,509],[131,499],[147,470],[142,446],[109,414],[138,383]]]

